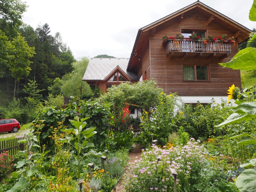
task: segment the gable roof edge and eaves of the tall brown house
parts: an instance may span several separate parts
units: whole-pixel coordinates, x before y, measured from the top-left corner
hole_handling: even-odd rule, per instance
[[[174,13],[171,13],[170,15],[167,15],[161,19],[158,19],[157,21],[149,24],[149,25],[146,25],[145,27],[142,27],[138,30],[138,33],[137,33],[137,36],[136,36],[136,39],[135,39],[135,43],[134,43],[134,46],[133,46],[133,50],[132,50],[132,53],[131,53],[131,57],[129,59],[129,63],[127,65],[127,69],[131,69],[132,67],[129,67],[130,66],[130,63],[131,63],[131,60],[132,58],[134,58],[135,60],[135,57],[136,56],[136,45],[138,42],[140,41],[145,41],[145,38],[149,37],[148,35],[145,35],[145,34],[142,34],[144,32],[148,32],[149,34],[151,33],[151,31],[154,30],[155,27],[157,27],[158,25],[161,25],[162,23],[170,20],[170,19],[173,19],[173,18],[177,18],[178,16],[181,16],[181,14],[189,11],[189,10],[192,10],[194,8],[199,8],[211,15],[214,16],[214,18],[218,19],[219,21],[223,22],[225,25],[235,29],[239,35],[239,40],[238,40],[238,43],[246,40],[248,38],[248,34],[252,32],[252,30],[248,29],[247,27],[235,22],[234,20],[232,20],[231,18],[225,16],[224,14],[214,10],[213,8],[205,5],[204,3],[200,2],[199,0],[174,12]],[[216,20],[215,19],[215,20]],[[240,31],[241,31],[241,34],[240,34]],[[140,61],[141,62],[141,61]]]

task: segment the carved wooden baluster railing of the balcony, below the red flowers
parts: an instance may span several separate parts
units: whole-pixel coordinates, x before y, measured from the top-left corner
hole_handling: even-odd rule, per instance
[[[230,53],[231,43],[229,41],[204,43],[202,40],[170,40],[166,44],[166,54],[173,51],[179,52],[207,52],[207,53]]]

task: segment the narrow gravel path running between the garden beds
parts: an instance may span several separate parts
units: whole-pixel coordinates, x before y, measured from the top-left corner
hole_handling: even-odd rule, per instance
[[[130,160],[128,162],[128,166],[125,167],[123,177],[119,181],[119,187],[117,192],[124,192],[125,191],[125,186],[124,183],[126,183],[129,178],[132,175],[132,168],[134,166],[135,160],[140,159],[140,155],[142,154],[142,147],[138,146],[132,150],[132,152],[129,154]]]

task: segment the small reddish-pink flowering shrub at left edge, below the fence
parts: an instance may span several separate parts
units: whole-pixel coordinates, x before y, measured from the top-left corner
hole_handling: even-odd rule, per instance
[[[13,168],[13,157],[8,154],[8,151],[0,153],[0,180],[8,175]]]

